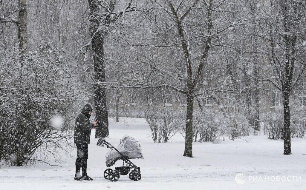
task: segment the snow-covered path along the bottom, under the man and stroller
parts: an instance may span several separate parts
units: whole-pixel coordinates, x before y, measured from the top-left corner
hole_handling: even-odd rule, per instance
[[[200,172],[196,168],[184,171],[142,170],[141,181],[130,181],[127,176],[121,176],[118,182],[106,181],[100,172],[91,172],[94,181],[74,181],[74,171],[56,170],[33,170],[14,169],[1,173],[0,184],[2,189],[305,189],[306,171],[271,171],[271,172],[248,172],[250,176],[292,176],[299,174],[301,181],[246,181],[240,185],[235,182],[235,175],[239,171],[228,172]],[[179,172],[179,173],[177,173]]]

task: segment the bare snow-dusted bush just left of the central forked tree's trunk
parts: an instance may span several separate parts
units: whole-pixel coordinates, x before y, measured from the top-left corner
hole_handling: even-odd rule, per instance
[[[169,109],[149,109],[145,112],[145,119],[154,143],[168,142],[177,133],[177,126],[182,123],[180,114]]]

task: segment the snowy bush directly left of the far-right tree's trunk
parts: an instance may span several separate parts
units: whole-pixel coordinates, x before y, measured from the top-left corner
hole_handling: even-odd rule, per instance
[[[262,119],[264,122],[264,132],[267,134],[268,139],[279,139],[282,134],[282,126],[284,118],[281,109],[269,111]]]

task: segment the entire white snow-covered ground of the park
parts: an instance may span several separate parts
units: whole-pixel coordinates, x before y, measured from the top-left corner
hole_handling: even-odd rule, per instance
[[[92,130],[88,159],[88,175],[93,181],[74,181],[75,160],[67,157],[62,167],[2,166],[0,189],[306,189],[306,139],[292,139],[292,155],[282,154],[281,140],[266,136],[254,136],[249,143],[239,139],[220,144],[196,142],[194,158],[186,158],[182,156],[184,138],[180,134],[168,143],[154,144],[144,119],[122,118],[116,123],[111,118],[107,141],[117,146],[128,134],[140,142],[144,154],[144,159],[131,160],[141,168],[140,181],[121,176],[111,182],[103,177],[105,154],[110,149],[97,146],[94,134]],[[76,156],[76,150],[73,154]],[[120,165],[118,161],[115,166]],[[235,180],[238,173],[245,176],[237,180],[243,184]]]

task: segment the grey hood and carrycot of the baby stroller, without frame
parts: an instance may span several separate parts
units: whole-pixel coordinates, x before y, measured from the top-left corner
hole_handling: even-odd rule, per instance
[[[121,154],[129,157],[129,159],[144,158],[144,155],[141,153],[140,143],[128,135],[121,138],[117,150],[121,152]],[[106,153],[105,163],[107,167],[113,166],[117,160],[122,158],[122,155],[120,155],[119,152],[113,149]]]

